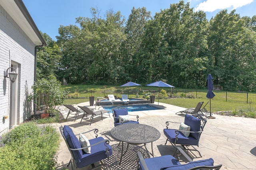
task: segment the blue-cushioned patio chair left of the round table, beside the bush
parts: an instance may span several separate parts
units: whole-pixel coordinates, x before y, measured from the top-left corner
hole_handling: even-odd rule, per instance
[[[91,131],[94,131],[96,138],[88,140],[83,134]],[[92,166],[90,170],[94,170],[99,167],[106,167],[108,169],[108,166],[106,164],[102,164],[101,160],[109,158],[112,155],[112,147],[109,145],[109,141],[103,137],[98,137],[98,129],[92,129],[88,132],[80,134],[78,139],[69,126],[64,125],[64,127],[60,127],[60,133],[71,154],[68,166],[71,163],[72,170],[89,165]],[[99,161],[101,164],[95,166],[94,163]]]

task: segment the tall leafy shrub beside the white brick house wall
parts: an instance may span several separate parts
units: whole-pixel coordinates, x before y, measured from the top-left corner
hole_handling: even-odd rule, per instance
[[[39,98],[41,101],[40,105],[44,106],[42,108],[42,118],[48,117],[57,105],[63,104],[65,96],[68,94],[68,91],[61,88],[61,82],[52,75],[48,78],[37,80],[32,88],[34,92],[33,97]],[[38,100],[34,101],[37,106],[39,105],[38,102]]]

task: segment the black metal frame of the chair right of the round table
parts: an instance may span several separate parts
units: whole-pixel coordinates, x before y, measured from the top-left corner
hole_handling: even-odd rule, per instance
[[[204,130],[204,126],[205,126],[205,124],[206,124],[206,122],[207,122],[207,120],[206,119],[204,119],[202,116],[200,116],[200,115],[193,115],[194,117],[197,117],[197,118],[199,118],[200,120],[201,120],[201,126],[200,126],[200,131],[197,131],[197,132],[195,132],[195,131],[190,131],[190,133],[199,133],[199,137],[198,137],[198,141],[200,140],[200,137],[201,137],[201,134],[202,134],[202,132],[203,132],[203,130]],[[166,129],[168,129],[168,126],[169,126],[169,122],[172,122],[172,121],[166,121]],[[177,122],[172,122],[172,123],[177,123]],[[169,139],[167,138],[166,139],[166,142],[165,142],[165,144],[164,145],[166,145],[167,144],[167,141],[169,141],[171,144],[172,144],[172,146],[175,148],[175,151],[174,151],[174,154],[173,155],[175,155],[175,153],[177,153],[177,154],[180,154],[179,152],[178,152],[178,150],[176,149],[177,147],[176,147],[176,142],[178,141],[178,135],[180,134],[180,131],[181,130],[176,130],[175,131],[175,134],[176,134],[176,139],[175,139],[175,141],[174,141],[174,144],[172,144],[170,141],[169,141]],[[184,131],[184,132],[188,132],[188,131]],[[179,143],[177,143],[178,145],[181,145],[182,147],[183,147],[183,149],[184,150],[194,150],[194,151],[197,151],[198,153],[199,153],[199,155],[200,155],[200,157],[202,157],[202,155],[201,155],[201,153],[199,152],[199,150],[197,150],[193,145],[186,145],[186,144],[179,144]],[[199,145],[199,143],[198,143],[198,145]],[[197,145],[197,147],[199,147]],[[188,147],[189,146],[191,146],[191,147],[193,147],[194,149],[189,149]],[[178,159],[178,157],[177,157],[177,159]]]

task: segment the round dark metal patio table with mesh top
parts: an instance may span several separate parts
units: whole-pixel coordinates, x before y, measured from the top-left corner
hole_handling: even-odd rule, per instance
[[[150,153],[154,157],[153,153],[153,142],[160,138],[160,132],[149,125],[139,124],[139,123],[127,123],[114,127],[110,131],[111,136],[116,141],[122,142],[122,150],[121,150],[121,158],[120,163],[122,162],[122,157],[127,152],[129,145],[140,145],[144,144],[145,149],[146,143],[151,143],[152,153]],[[128,143],[126,151],[124,152],[124,142]]]

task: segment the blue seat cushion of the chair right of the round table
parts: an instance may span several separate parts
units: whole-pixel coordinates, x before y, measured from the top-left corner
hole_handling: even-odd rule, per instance
[[[169,139],[171,143],[175,142],[176,139],[176,129],[164,129],[164,135]],[[184,145],[198,145],[199,141],[192,137],[191,133],[188,137],[185,137],[182,133],[179,133],[178,140],[176,144],[184,144]]]

